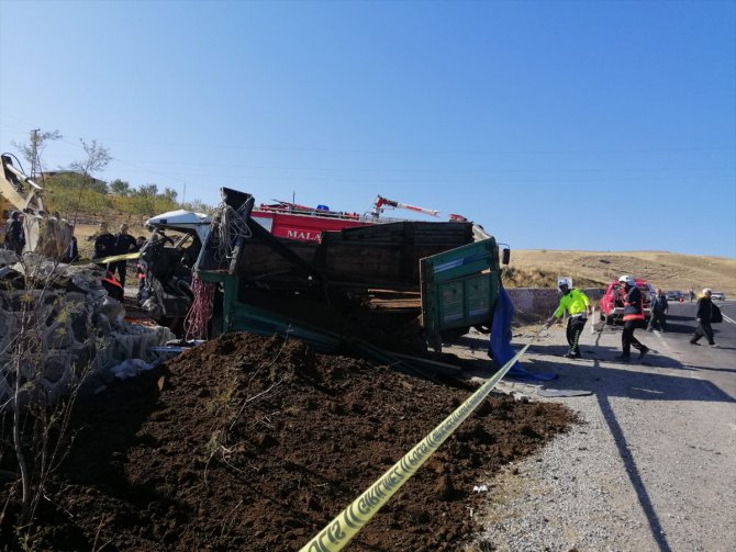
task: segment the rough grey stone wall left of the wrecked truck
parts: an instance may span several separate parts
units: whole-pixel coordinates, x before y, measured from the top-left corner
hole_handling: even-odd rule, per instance
[[[153,361],[149,348],[174,338],[168,328],[126,323],[121,303],[100,284],[97,267],[53,263],[33,254],[18,261],[0,250],[0,266],[10,269],[0,278],[0,367],[20,365],[33,382],[26,394],[55,401],[81,374],[86,390],[93,392],[109,383],[113,367],[132,359]],[[0,378],[0,404],[12,395],[13,381]]]

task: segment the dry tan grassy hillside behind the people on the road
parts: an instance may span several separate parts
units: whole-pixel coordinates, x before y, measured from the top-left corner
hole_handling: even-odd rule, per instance
[[[661,251],[514,250],[509,286],[554,288],[558,275],[569,275],[579,288],[603,286],[622,274],[645,278],[663,290],[712,288],[736,295],[736,259]]]

